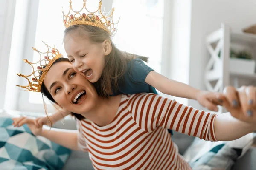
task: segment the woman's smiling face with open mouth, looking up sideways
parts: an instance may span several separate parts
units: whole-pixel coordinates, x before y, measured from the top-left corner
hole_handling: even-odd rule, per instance
[[[73,113],[86,113],[96,105],[98,94],[95,88],[74,71],[70,62],[52,65],[44,78],[44,85],[58,105]]]

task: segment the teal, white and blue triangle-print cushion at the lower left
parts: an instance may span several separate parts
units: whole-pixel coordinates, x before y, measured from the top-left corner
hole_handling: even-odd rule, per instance
[[[61,170],[70,149],[35,136],[25,124],[14,127],[0,117],[0,170]]]

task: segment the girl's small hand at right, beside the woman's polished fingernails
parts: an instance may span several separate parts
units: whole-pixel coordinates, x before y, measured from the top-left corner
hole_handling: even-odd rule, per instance
[[[222,106],[222,100],[218,98],[220,93],[218,92],[209,92],[209,91],[199,91],[196,99],[203,107],[211,110],[218,111],[218,105]]]

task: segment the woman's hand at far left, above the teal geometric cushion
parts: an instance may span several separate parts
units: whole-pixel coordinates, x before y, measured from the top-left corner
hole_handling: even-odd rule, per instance
[[[20,117],[17,117],[17,118],[13,118],[13,125],[14,127],[20,127],[24,124],[27,124],[29,129],[31,130],[31,132],[37,136],[37,135],[41,135],[42,133],[42,125],[36,125],[35,124],[35,119],[32,119],[32,118],[28,118],[28,117],[23,117],[23,116],[20,116]]]

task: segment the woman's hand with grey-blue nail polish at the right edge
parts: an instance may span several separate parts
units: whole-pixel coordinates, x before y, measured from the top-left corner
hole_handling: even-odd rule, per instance
[[[247,123],[256,123],[256,88],[254,86],[242,86],[239,89],[228,86],[224,88],[224,95],[219,97],[233,117]]]

